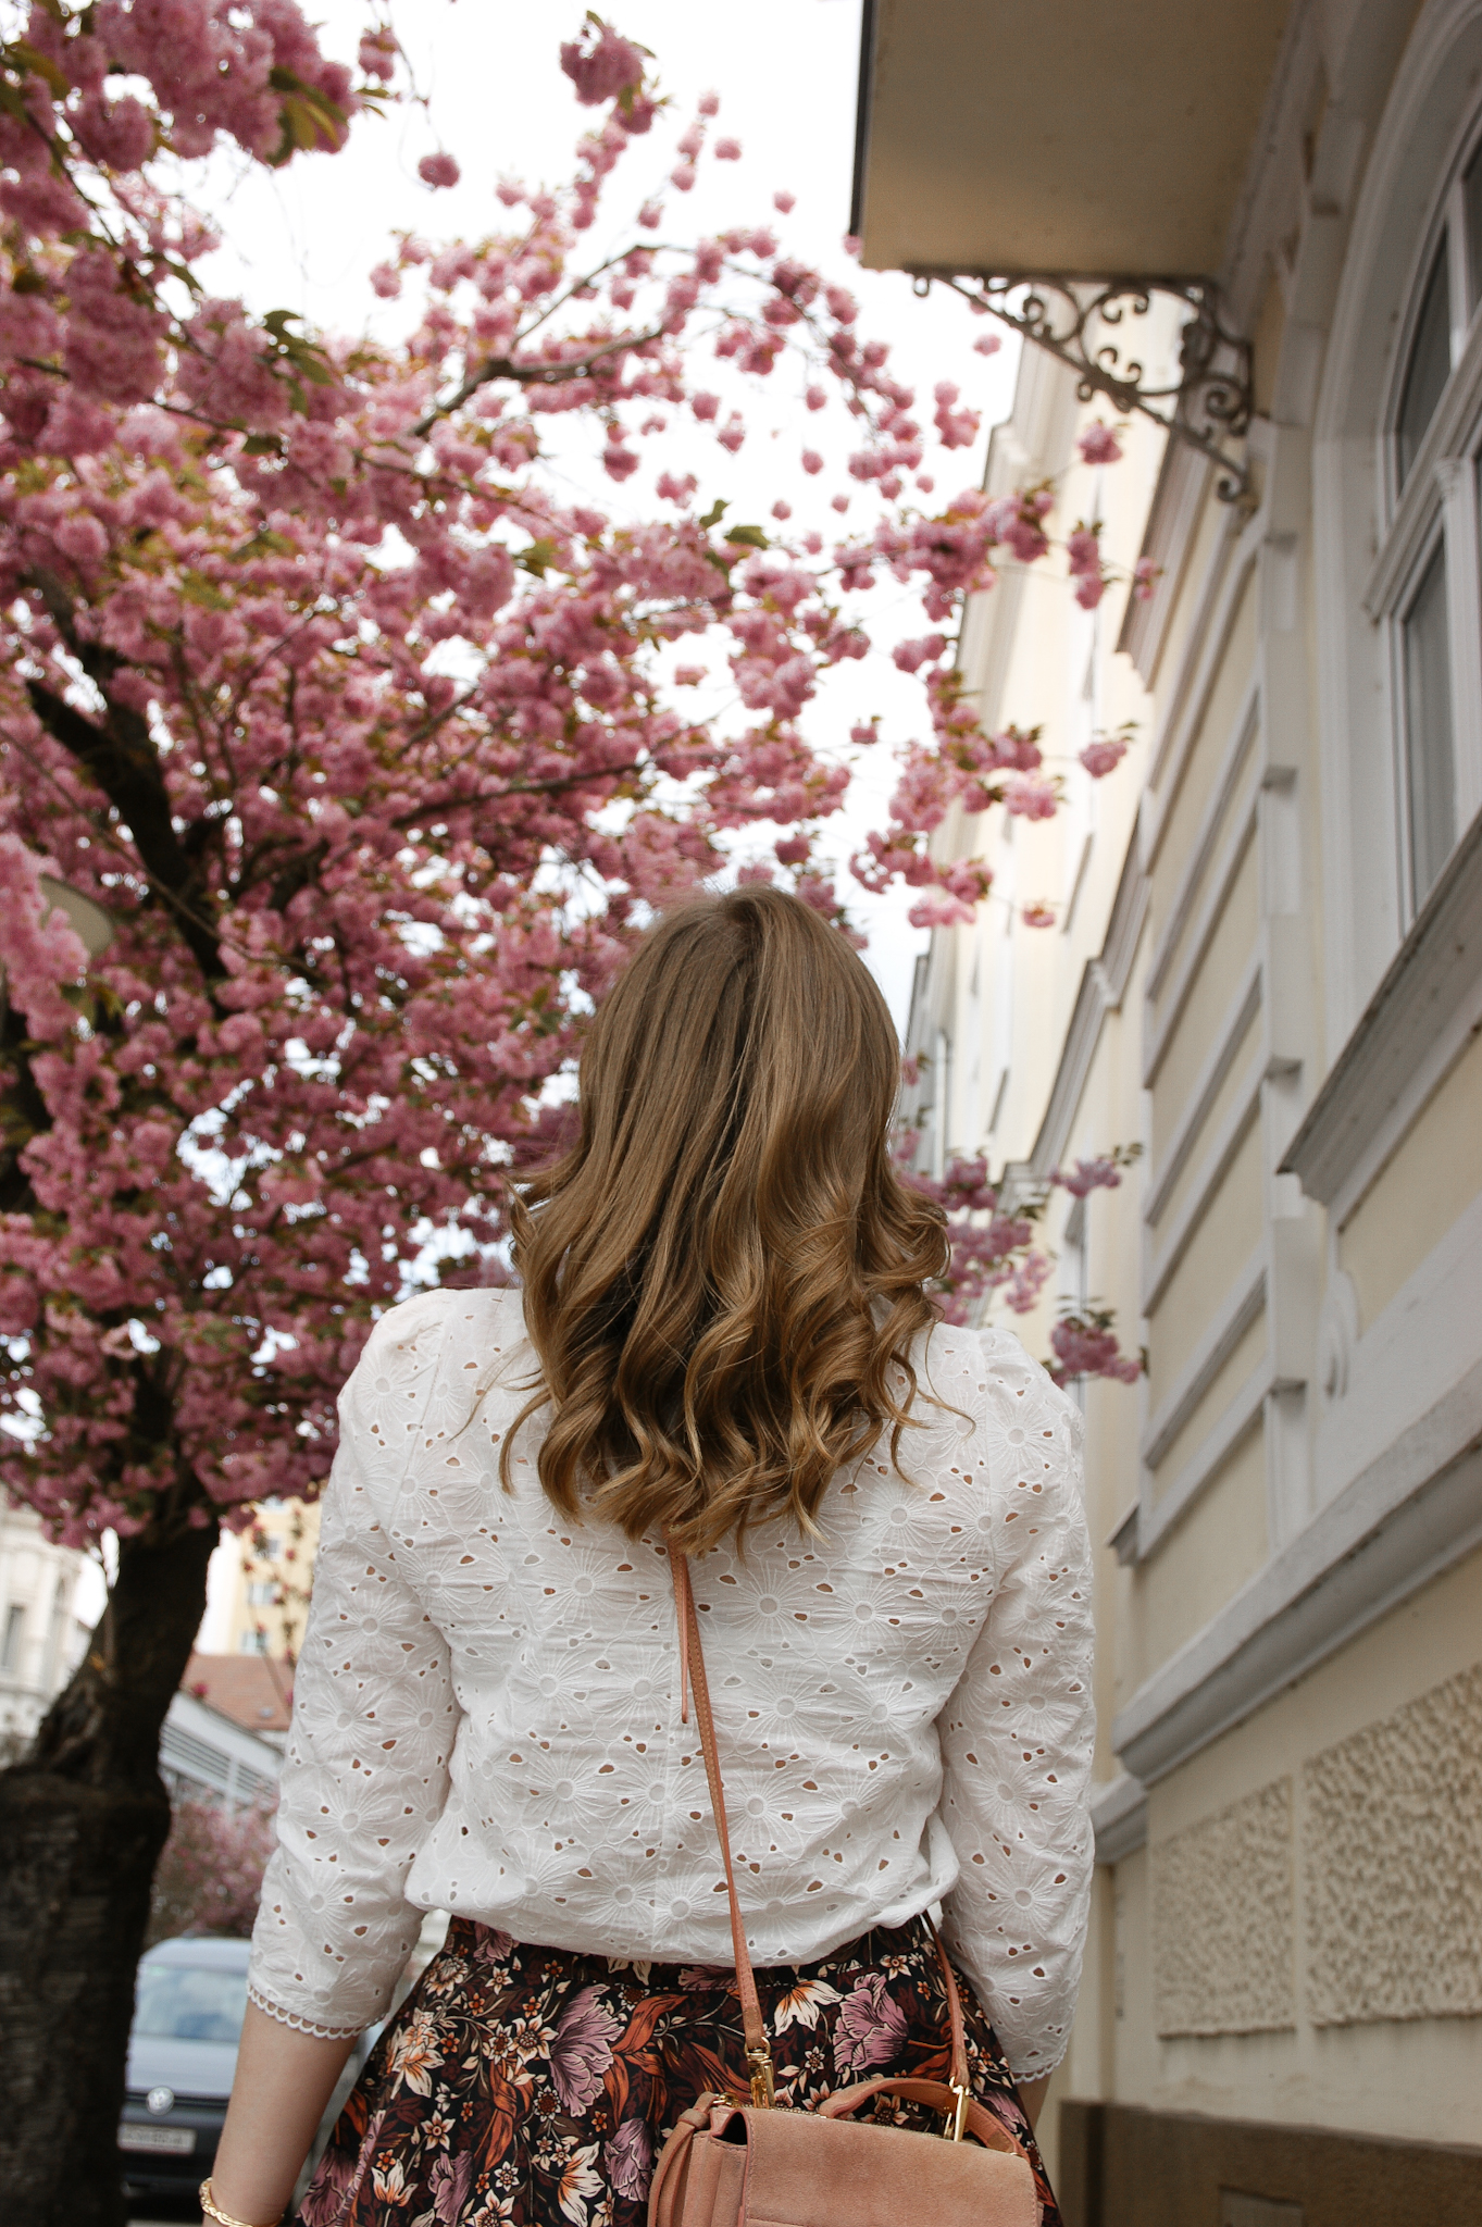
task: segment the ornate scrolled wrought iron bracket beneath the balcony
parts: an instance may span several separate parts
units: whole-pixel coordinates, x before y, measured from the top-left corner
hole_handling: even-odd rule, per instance
[[[1137,410],[1170,439],[1208,457],[1217,468],[1215,492],[1222,503],[1237,503],[1248,494],[1251,472],[1224,443],[1237,441],[1251,425],[1251,343],[1219,323],[1219,290],[1213,281],[946,278],[921,272],[917,292],[926,294],[932,281],[1070,365],[1081,401],[1104,394],[1117,410]],[[1188,310],[1179,332],[1179,376],[1162,387],[1146,383],[1142,359],[1126,345],[1128,318],[1146,316],[1155,294],[1168,294]]]

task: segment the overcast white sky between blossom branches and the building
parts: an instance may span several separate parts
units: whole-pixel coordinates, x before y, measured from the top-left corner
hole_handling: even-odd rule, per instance
[[[579,31],[585,13],[579,0],[534,7],[530,0],[401,0],[394,13],[427,111],[403,105],[385,118],[360,118],[343,154],[296,158],[285,171],[216,165],[205,198],[225,245],[202,276],[218,292],[243,294],[256,310],[296,310],[332,332],[389,334],[405,323],[407,305],[381,303],[367,272],[396,229],[416,229],[429,241],[478,236],[507,223],[494,200],[503,176],[561,183],[570,174],[574,140],[596,114],[576,107],[559,65],[561,40]],[[841,249],[854,158],[859,0],[752,0],[745,9],[612,0],[603,13],[652,49],[674,107],[619,167],[590,234],[592,261],[634,236],[639,205],[674,163],[676,134],[699,94],[714,89],[721,116],[712,129],[737,136],[743,158],[705,160],[690,196],[670,194],[659,236],[772,223],[788,247],[852,285],[861,301],[859,330],[890,343],[899,376],[926,401],[923,423],[930,423],[930,390],[952,379],[964,401],[984,412],[986,441],[988,425],[1008,410],[1017,365],[1012,336],[992,359],[975,354],[972,341],[984,325],[959,301],[941,292],[919,301],[908,278],[861,272]],[[327,51],[352,58],[369,9],[365,0],[318,0],[309,16],[323,22]],[[452,192],[432,192],[416,176],[418,158],[438,145],[463,169]],[[786,218],[772,207],[777,189],[797,196]],[[725,387],[728,372],[717,367],[703,383]],[[817,523],[828,537],[837,534],[841,521],[828,510],[828,497],[843,481],[841,461],[852,445],[843,412],[808,416],[799,379],[786,370],[739,399],[750,428],[739,457],[728,457],[699,430],[676,428],[656,443],[663,450],[656,468],[699,472],[703,494],[728,499],[732,519],[765,523],[772,503],[783,499],[794,508],[794,526]],[[561,436],[565,421],[554,432]],[[592,463],[590,430],[574,432],[581,448],[565,443],[561,450],[567,479],[585,481],[607,512],[663,514],[643,477],[619,492]],[[981,479],[984,441],[937,459],[937,494]],[[830,459],[819,479],[808,479],[797,463],[803,445]],[[868,526],[875,514],[875,501],[859,492],[848,523]],[[863,615],[881,644],[879,655],[832,675],[806,715],[810,739],[830,750],[848,753],[848,728],[875,713],[881,735],[895,742],[926,724],[919,684],[899,675],[888,657],[892,641],[923,630],[915,597],[875,590]],[[712,666],[721,670],[719,657]],[[828,851],[839,866],[861,835],[883,822],[892,786],[888,755],[863,753],[850,806],[828,826]],[[846,873],[841,893],[870,935],[868,960],[903,1024],[912,960],[926,940],[906,922],[908,897],[870,900]]]

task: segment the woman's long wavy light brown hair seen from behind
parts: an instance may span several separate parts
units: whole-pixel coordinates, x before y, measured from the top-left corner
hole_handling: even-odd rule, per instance
[[[585,1040],[581,1138],[514,1205],[541,1365],[518,1421],[550,1403],[563,1514],[705,1548],[777,1512],[817,1530],[886,1430],[899,1463],[948,1247],[890,1160],[897,1080],[886,1000],[799,897],[692,902],[639,944]]]

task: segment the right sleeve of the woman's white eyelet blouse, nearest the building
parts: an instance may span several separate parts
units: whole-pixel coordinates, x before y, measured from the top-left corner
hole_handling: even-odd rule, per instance
[[[946,1937],[1017,2080],[1070,2040],[1090,1909],[1090,1541],[1081,1414],[1008,1332],[984,1332],[995,1597],[941,1717],[941,1817],[961,1864]]]

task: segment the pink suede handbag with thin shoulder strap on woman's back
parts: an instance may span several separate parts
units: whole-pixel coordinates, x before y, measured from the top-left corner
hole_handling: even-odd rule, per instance
[[[654,2167],[648,2227],[903,2227],[908,2220],[930,2220],[932,2227],[1039,2227],[1039,2196],[1021,2145],[972,2098],[961,2000],[939,1937],[937,1955],[952,2020],[950,2078],[861,2080],[828,2096],[817,2111],[772,2109],[772,2049],[737,1902],[690,1566],[674,1548],[670,1568],[679,1610],[681,1721],[690,1719],[688,1690],[694,1686],[730,1895],[752,2102],[745,2107],[730,2096],[708,2093],[683,2113]],[[943,2133],[854,2125],[852,2113],[877,2096],[899,2096],[941,2111]]]

